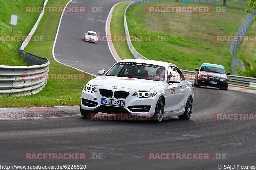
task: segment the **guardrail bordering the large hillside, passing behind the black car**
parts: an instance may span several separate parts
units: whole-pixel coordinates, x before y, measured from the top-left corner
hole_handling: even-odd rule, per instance
[[[130,39],[130,33],[129,33],[129,30],[128,30],[128,25],[127,25],[127,20],[126,20],[126,13],[133,5],[144,3],[144,2],[155,2],[155,1],[158,1],[158,0],[138,0],[138,1],[134,1],[134,2],[132,2],[131,4],[129,4],[127,6],[127,8],[125,9],[125,12],[124,12],[124,29],[125,29],[125,35],[127,37],[127,44],[128,44],[128,47],[129,47],[132,55],[136,59],[148,60],[146,57],[144,57],[140,53],[138,53],[136,51],[136,49],[132,46],[132,42],[131,42],[131,39]],[[200,2],[203,2],[203,1],[204,0],[202,0]],[[204,2],[206,2],[206,0]],[[187,79],[195,79],[196,71],[189,71],[189,70],[181,70],[181,71]],[[233,84],[233,85],[238,85],[238,86],[243,86],[243,87],[250,87],[250,88],[255,88],[256,89],[256,78],[243,77],[243,76],[237,76],[237,75],[228,75],[228,80],[229,80],[229,83]]]

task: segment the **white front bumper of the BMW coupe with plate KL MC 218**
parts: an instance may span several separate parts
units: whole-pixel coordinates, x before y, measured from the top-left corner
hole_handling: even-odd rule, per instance
[[[157,94],[150,98],[139,98],[137,96],[132,96],[135,92],[138,92],[138,90],[130,90],[130,94],[125,99],[118,99],[114,98],[112,96],[111,98],[104,97],[100,95],[99,89],[97,89],[97,92],[87,92],[83,89],[82,95],[81,95],[81,101],[80,105],[83,110],[90,110],[94,113],[102,112],[102,113],[109,113],[109,114],[117,114],[117,113],[129,113],[136,116],[147,116],[147,117],[153,117],[155,113],[156,103],[158,100]],[[101,87],[101,89],[111,89],[111,87]],[[113,88],[111,89],[113,93],[115,90]],[[125,88],[118,88],[118,91],[128,91],[128,89]],[[125,101],[124,107],[121,106],[110,106],[101,104],[101,99],[112,99],[112,100],[123,100]],[[86,103],[84,102],[86,100]],[[148,109],[146,112],[143,110],[141,112],[140,108],[147,107]]]

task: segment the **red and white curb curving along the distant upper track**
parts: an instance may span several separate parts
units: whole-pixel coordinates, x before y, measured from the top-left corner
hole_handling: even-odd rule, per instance
[[[107,36],[107,40],[108,40],[108,48],[109,48],[111,54],[113,55],[113,57],[116,61],[121,61],[122,59],[120,58],[120,56],[116,52],[116,48],[113,44],[113,41],[112,41],[112,38],[111,38],[111,32],[110,32],[110,25],[111,25],[111,19],[113,17],[113,15],[112,15],[113,11],[114,11],[116,5],[121,4],[121,3],[123,3],[123,2],[119,2],[111,8],[111,10],[108,14],[107,22],[106,22],[106,36]]]

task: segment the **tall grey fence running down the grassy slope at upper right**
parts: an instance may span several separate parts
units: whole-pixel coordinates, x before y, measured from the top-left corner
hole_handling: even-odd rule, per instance
[[[240,28],[236,32],[236,36],[244,36],[245,32],[247,31],[247,29],[251,25],[252,20],[255,16],[256,15],[252,15],[252,14],[248,14],[246,16],[246,18],[243,21],[243,24],[240,26]],[[235,64],[239,68],[245,68],[244,64],[241,63],[239,60],[237,60],[236,57],[235,57],[236,49],[239,46],[241,40],[242,39],[240,39],[238,41],[232,41],[231,46],[230,46],[230,53],[231,53],[230,68],[231,68],[232,73],[234,73],[234,74],[237,74],[236,70],[232,67]]]

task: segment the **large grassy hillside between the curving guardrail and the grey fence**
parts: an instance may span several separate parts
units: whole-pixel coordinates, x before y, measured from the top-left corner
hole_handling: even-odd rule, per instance
[[[147,6],[221,6],[215,4],[151,2],[133,6],[127,13],[130,35],[167,36],[165,41],[132,42],[151,60],[161,60],[194,70],[203,62],[223,65],[230,72],[230,42],[215,42],[214,35],[235,35],[247,13],[246,2],[228,1],[224,13],[147,13]]]

